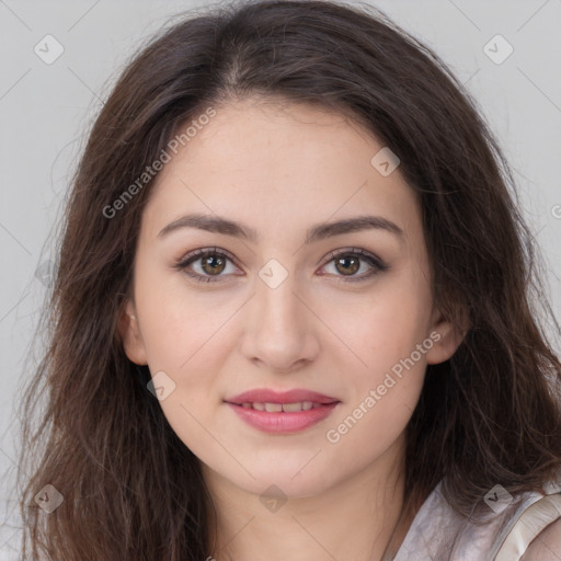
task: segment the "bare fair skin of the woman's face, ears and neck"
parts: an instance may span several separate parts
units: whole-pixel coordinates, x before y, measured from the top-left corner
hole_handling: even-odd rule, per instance
[[[461,337],[433,306],[414,192],[399,168],[382,176],[370,164],[382,146],[342,115],[311,105],[231,103],[165,164],[144,209],[121,321],[125,352],[175,383],[160,405],[202,462],[218,513],[208,553],[218,561],[380,560],[399,519],[404,428],[426,365],[449,358]],[[259,241],[194,228],[158,237],[194,211],[242,222]],[[403,236],[369,229],[304,244],[312,225],[365,214],[393,221]],[[215,247],[236,257],[217,282],[173,267]],[[360,268],[346,273],[350,265],[337,267],[329,256],[352,248],[389,268],[345,280],[373,268],[359,257]],[[288,273],[276,288],[259,276],[273,257]],[[188,270],[211,276],[216,265],[203,264],[199,257]],[[330,443],[327,431],[432,332],[439,341]],[[267,434],[224,402],[254,388],[304,388],[341,403],[305,431]],[[272,484],[286,499],[275,512],[260,501]],[[390,551],[411,518],[401,518]]]

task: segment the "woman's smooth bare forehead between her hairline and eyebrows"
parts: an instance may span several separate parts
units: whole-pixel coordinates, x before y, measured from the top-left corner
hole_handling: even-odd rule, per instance
[[[215,111],[176,154],[170,152],[146,208],[154,228],[193,210],[257,231],[357,214],[381,215],[404,230],[419,222],[414,192],[399,167],[380,173],[375,163],[383,145],[344,115],[255,100]]]

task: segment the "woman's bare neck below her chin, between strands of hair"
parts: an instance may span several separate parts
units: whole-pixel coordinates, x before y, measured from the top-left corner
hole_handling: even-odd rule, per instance
[[[203,465],[217,513],[209,556],[216,561],[392,559],[414,516],[403,510],[402,459],[400,439],[352,478],[312,496],[288,496],[271,512],[262,497]]]

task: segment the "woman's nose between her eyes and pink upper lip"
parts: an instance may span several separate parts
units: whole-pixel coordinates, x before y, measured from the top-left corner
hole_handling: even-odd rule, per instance
[[[297,293],[294,275],[275,288],[256,280],[248,302],[241,352],[254,365],[289,374],[316,359],[321,321],[306,296]]]

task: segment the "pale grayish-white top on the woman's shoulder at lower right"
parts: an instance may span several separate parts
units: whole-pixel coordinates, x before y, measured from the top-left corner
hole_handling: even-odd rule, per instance
[[[561,518],[561,478],[513,499],[501,485],[484,497],[489,506],[476,525],[460,516],[436,485],[416,513],[393,561],[518,561],[530,541]]]

